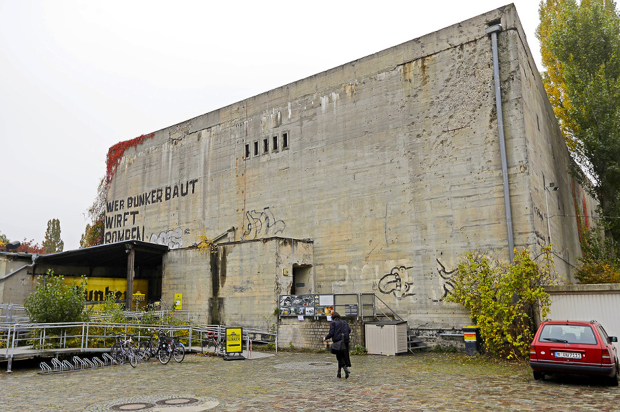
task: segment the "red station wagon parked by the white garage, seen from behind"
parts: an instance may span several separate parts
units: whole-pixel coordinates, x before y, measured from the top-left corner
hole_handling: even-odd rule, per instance
[[[596,320],[542,322],[530,344],[530,367],[534,379],[552,373],[579,373],[610,378],[618,385],[618,356],[613,342]]]

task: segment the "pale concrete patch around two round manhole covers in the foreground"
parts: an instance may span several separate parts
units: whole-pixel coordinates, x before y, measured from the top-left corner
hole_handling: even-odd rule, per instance
[[[148,395],[99,402],[88,406],[85,412],[149,411],[149,412],[202,412],[218,406],[214,398],[194,395]]]

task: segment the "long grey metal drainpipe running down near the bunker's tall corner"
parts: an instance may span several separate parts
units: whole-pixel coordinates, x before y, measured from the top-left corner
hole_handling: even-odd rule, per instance
[[[502,25],[486,29],[493,47],[493,77],[495,78],[495,108],[497,110],[497,132],[499,132],[499,153],[502,157],[502,179],[504,181],[504,207],[506,207],[506,230],[508,231],[508,254],[510,262],[515,258],[515,238],[513,235],[513,212],[510,209],[510,187],[508,186],[508,162],[506,161],[506,139],[504,138],[504,116],[502,114],[502,90],[499,87],[499,57],[497,55],[497,33]]]

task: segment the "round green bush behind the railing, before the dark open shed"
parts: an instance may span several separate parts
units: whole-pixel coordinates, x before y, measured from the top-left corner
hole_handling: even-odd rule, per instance
[[[23,306],[34,323],[81,322],[84,319],[86,279],[72,286],[65,285],[63,276],[48,269],[43,281],[30,293]]]

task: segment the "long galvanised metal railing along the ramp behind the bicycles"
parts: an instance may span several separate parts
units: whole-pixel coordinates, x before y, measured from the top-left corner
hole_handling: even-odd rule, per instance
[[[218,338],[226,336],[225,325],[135,325],[107,322],[74,323],[2,323],[0,324],[0,357],[8,359],[11,370],[12,359],[41,355],[45,351],[54,353],[61,349],[74,352],[92,351],[112,347],[116,336],[134,335],[136,342],[150,339],[156,331],[165,331],[167,336],[177,337],[188,351],[199,351],[206,333],[217,333]],[[275,343],[278,348],[278,334],[275,331],[242,328],[242,339],[246,350],[251,352],[252,342]],[[194,349],[192,349],[194,347]],[[50,356],[52,356],[50,354]]]

